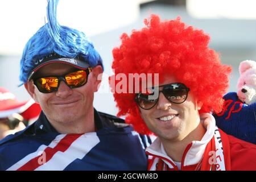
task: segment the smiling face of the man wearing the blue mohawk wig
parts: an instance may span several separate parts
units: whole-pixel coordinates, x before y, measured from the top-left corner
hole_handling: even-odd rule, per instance
[[[25,86],[31,97],[40,104],[53,126],[55,124],[73,125],[76,122],[85,122],[87,115],[92,115],[94,92],[97,91],[97,86],[100,84],[97,80],[97,70],[102,71],[102,69],[98,67],[100,66],[92,69],[87,83],[79,88],[71,89],[64,81],[60,82],[57,92],[52,93],[39,92],[32,81],[27,82]],[[35,77],[61,76],[72,71],[76,71],[76,68],[71,65],[52,63],[39,69]]]

